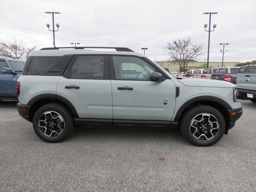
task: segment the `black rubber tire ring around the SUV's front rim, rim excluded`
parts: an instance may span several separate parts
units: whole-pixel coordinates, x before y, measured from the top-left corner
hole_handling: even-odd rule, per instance
[[[197,140],[190,133],[190,122],[192,121],[192,119],[195,116],[197,116],[198,114],[202,114],[202,113],[212,114],[219,122],[219,131],[218,131],[217,135],[214,136],[214,138],[212,138],[209,141]],[[218,110],[216,110],[215,108],[210,107],[210,106],[197,106],[197,107],[191,108],[183,116],[182,122],[181,122],[181,131],[182,131],[183,136],[186,138],[186,140],[188,140],[188,142],[190,142],[191,144],[194,144],[196,146],[210,146],[210,145],[215,144],[222,138],[222,136],[225,132],[225,129],[226,129],[226,123],[225,123],[224,117]]]

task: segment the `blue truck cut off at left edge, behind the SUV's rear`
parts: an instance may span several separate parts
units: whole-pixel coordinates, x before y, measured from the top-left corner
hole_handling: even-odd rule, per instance
[[[25,61],[0,58],[0,100],[18,100],[17,79],[22,74]]]

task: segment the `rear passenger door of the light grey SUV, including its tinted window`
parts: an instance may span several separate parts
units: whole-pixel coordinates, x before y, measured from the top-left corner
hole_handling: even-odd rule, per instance
[[[62,96],[88,126],[112,126],[112,90],[108,56],[74,56],[58,80],[57,98]]]

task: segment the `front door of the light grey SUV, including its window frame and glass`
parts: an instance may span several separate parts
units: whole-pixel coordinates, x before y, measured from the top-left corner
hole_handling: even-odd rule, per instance
[[[132,68],[143,77],[127,77],[122,72]],[[150,74],[159,70],[136,56],[110,56],[114,126],[161,126],[174,113],[176,86],[170,79],[151,82]],[[163,125],[164,126],[164,125]]]

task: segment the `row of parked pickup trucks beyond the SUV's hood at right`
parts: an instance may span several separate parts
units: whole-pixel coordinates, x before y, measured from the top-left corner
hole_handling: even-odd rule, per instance
[[[172,76],[222,80],[236,84],[238,95],[256,102],[256,64],[242,67],[222,67],[188,70],[186,74],[170,72]]]

